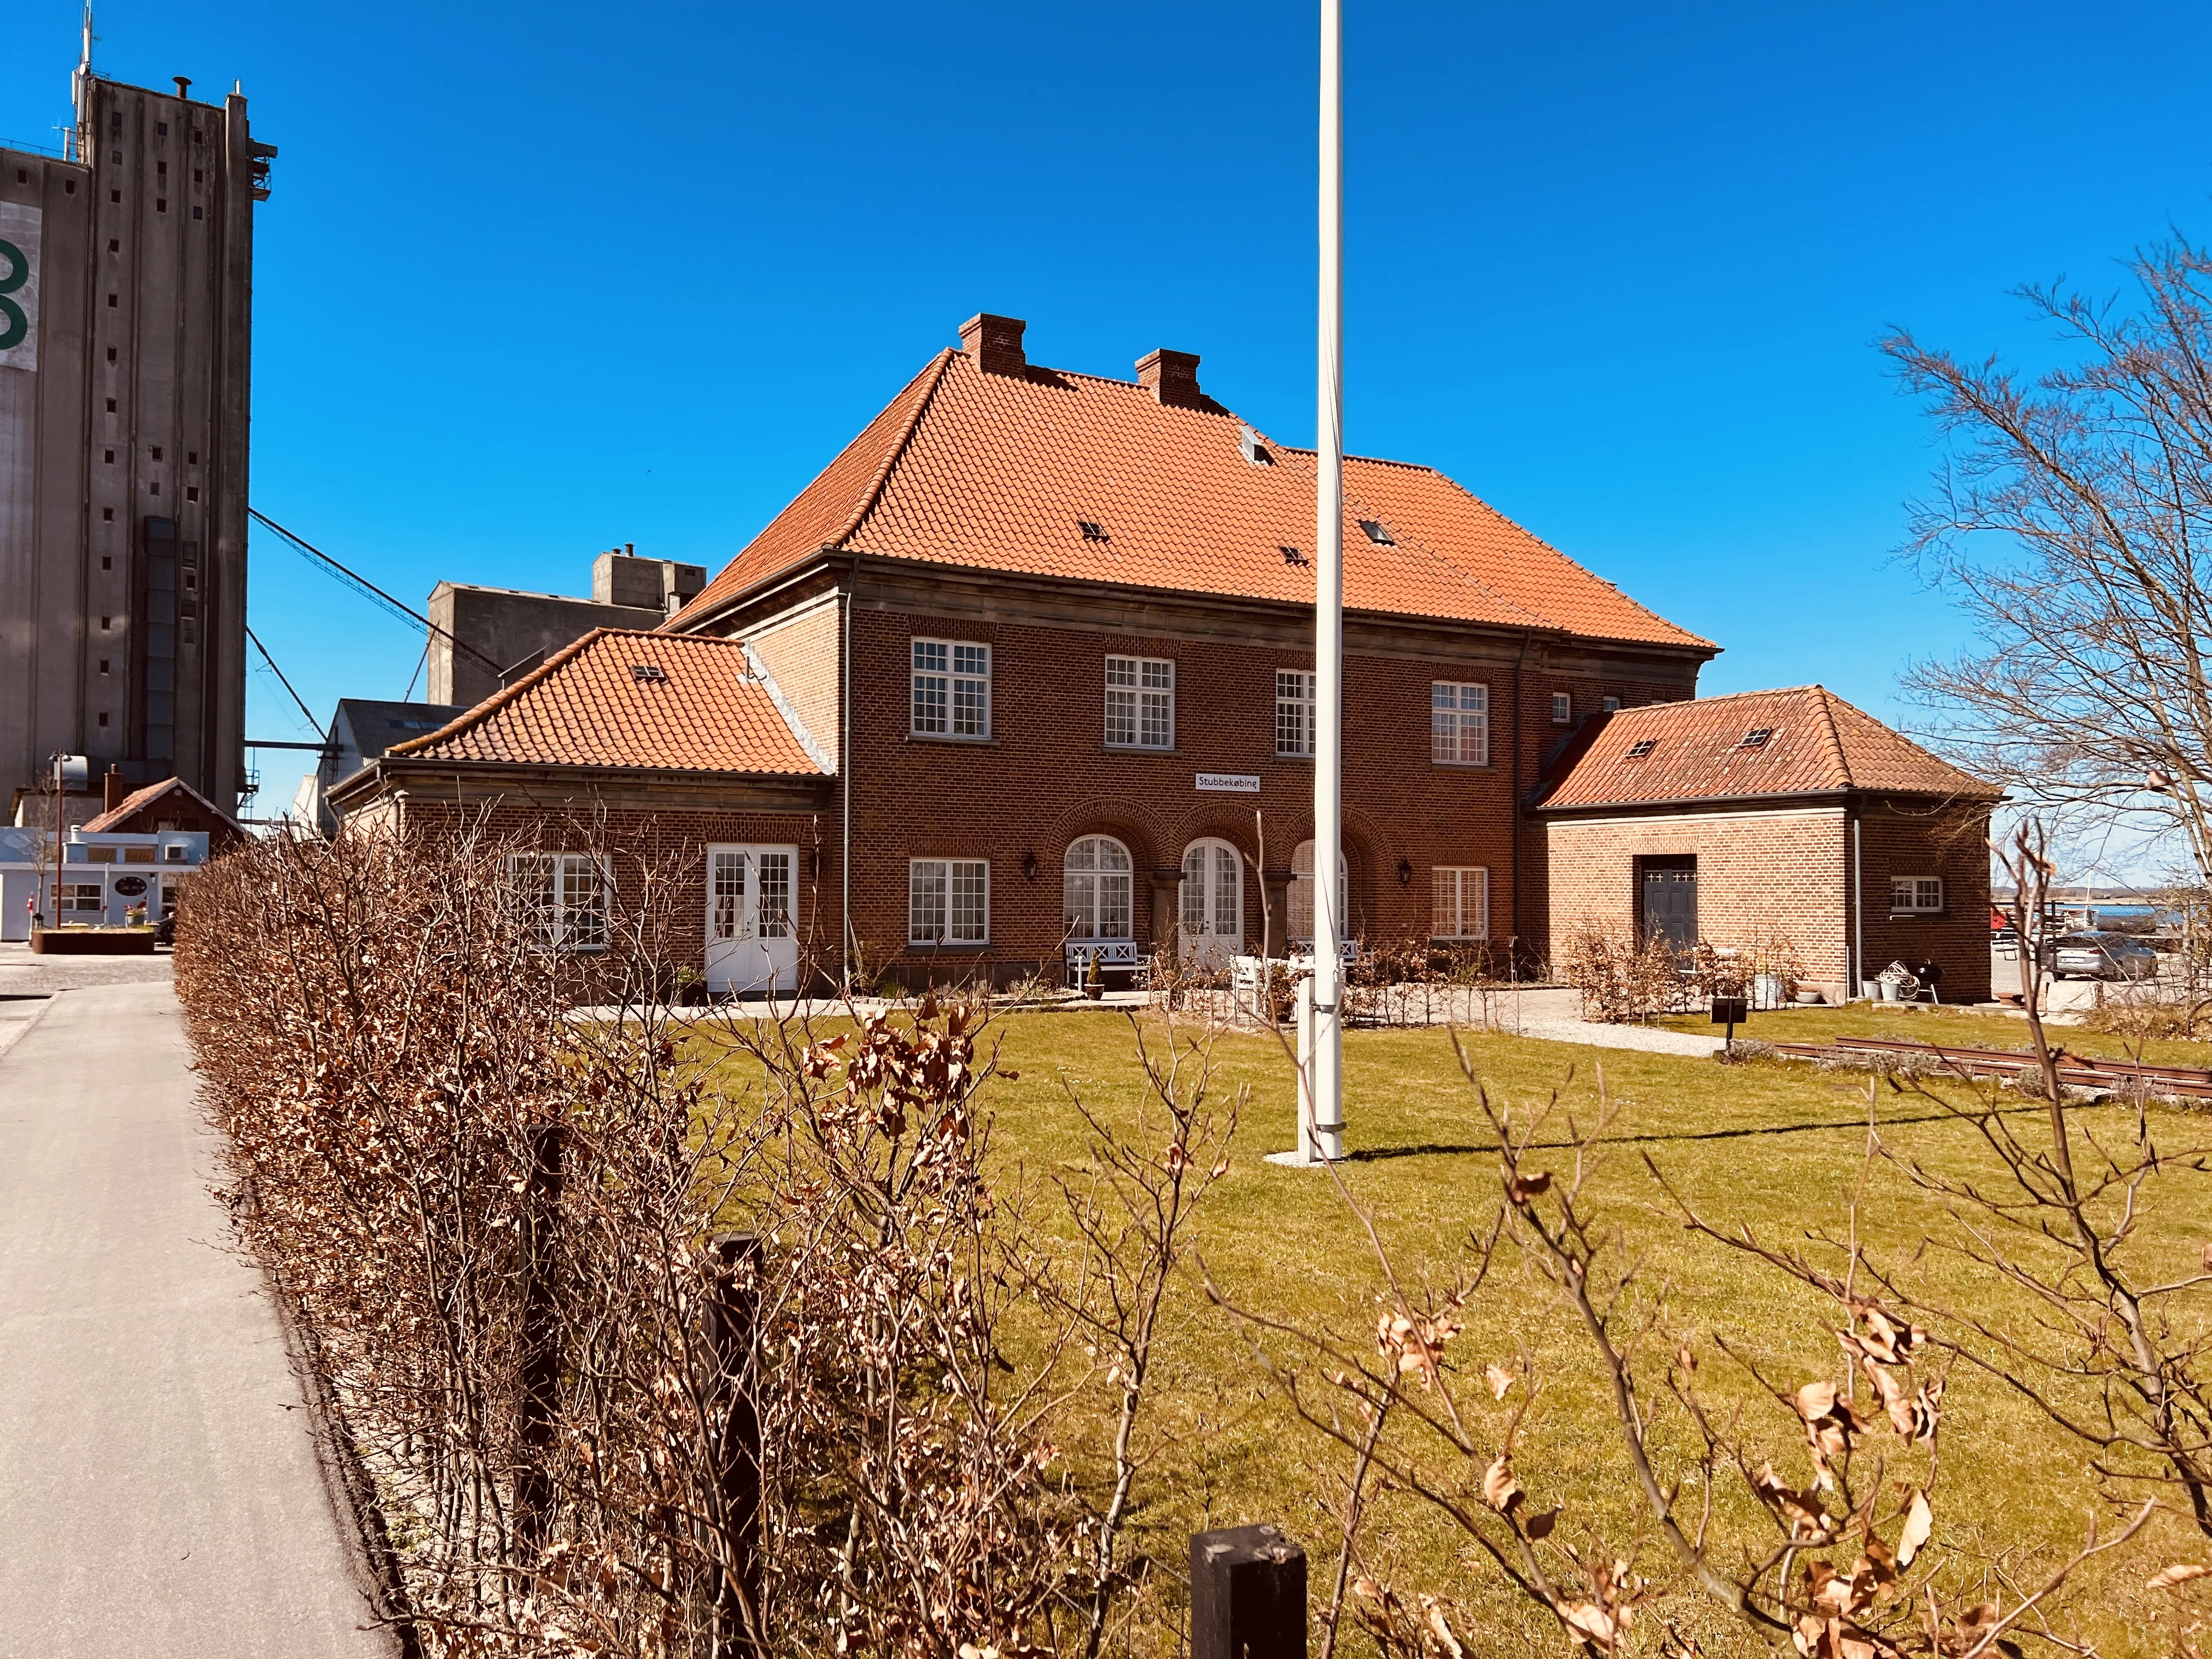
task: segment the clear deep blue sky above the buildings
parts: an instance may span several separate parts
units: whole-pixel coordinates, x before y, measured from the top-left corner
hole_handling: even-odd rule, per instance
[[[1728,650],[1898,719],[1958,639],[1891,562],[1933,434],[1893,323],[2046,361],[2008,290],[2212,234],[2212,11],[1347,4],[1347,440],[1433,462]],[[0,137],[77,13],[18,0]],[[1155,345],[1312,438],[1314,15],[1252,7],[108,0],[97,64],[281,146],[254,502],[420,604],[721,564],[975,310]],[[257,535],[319,714],[420,635]],[[296,737],[265,672],[250,732]],[[265,807],[290,794],[263,757]]]

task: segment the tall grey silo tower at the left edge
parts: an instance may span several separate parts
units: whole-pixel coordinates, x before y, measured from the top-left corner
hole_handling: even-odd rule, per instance
[[[0,148],[0,787],[49,757],[234,807],[254,204],[246,97],[104,80]]]

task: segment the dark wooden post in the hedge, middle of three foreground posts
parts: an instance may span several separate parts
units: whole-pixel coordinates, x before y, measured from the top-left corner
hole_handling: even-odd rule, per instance
[[[761,1405],[757,1334],[761,1241],[750,1232],[714,1234],[706,1303],[708,1449],[723,1564],[714,1595],[714,1659],[768,1650],[761,1628]]]

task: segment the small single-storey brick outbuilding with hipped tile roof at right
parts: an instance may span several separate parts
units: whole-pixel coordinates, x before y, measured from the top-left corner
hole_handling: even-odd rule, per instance
[[[1936,962],[1947,1000],[1980,1002],[1995,801],[1820,686],[1599,714],[1537,790],[1540,938],[1785,942],[1832,1002]]]

